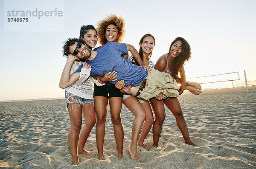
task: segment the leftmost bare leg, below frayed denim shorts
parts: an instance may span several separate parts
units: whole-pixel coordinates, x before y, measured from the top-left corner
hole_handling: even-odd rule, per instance
[[[73,98],[69,98],[70,101],[73,101]],[[67,107],[69,116],[70,116],[70,131],[68,133],[68,144],[71,152],[71,161],[73,164],[78,164],[78,141],[79,133],[82,125],[82,108],[79,104],[71,104],[70,107]]]

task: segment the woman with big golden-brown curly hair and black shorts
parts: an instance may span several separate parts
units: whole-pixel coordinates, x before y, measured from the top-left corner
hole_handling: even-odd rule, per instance
[[[105,45],[108,42],[122,42],[125,34],[125,20],[122,17],[117,17],[114,14],[110,14],[104,20],[99,21],[97,31],[101,45]],[[97,48],[94,50],[97,50]],[[101,79],[101,77],[99,77],[99,79]],[[111,121],[116,138],[117,153],[119,160],[121,160],[123,157],[124,143],[124,129],[121,121],[123,93],[121,93],[120,90],[117,90],[114,85],[107,82],[105,86],[99,87],[95,85],[93,97],[97,118],[97,158],[100,160],[103,159],[105,124],[107,120],[107,106],[109,101]]]

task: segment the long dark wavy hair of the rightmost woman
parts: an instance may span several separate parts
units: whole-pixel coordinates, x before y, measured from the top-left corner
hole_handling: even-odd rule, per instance
[[[171,54],[171,49],[172,49],[172,45],[176,42],[180,40],[182,45],[182,51],[179,54],[179,56],[177,56],[174,61],[171,64],[171,70],[172,70],[172,77],[174,77],[175,79],[177,79],[179,70],[181,68],[182,65],[185,64],[185,62],[188,62],[189,59],[191,58],[191,52],[190,52],[190,45],[189,43],[182,37],[177,37],[171,44],[170,49],[169,49],[169,54]]]

